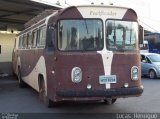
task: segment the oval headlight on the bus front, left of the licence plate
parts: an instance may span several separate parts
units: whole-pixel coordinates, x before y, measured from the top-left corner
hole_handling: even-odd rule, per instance
[[[71,73],[71,79],[74,83],[79,83],[82,80],[82,71],[79,67],[74,67]]]

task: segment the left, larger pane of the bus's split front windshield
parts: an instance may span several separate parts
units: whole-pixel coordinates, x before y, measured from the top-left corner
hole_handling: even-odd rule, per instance
[[[97,51],[103,48],[101,20],[60,20],[58,48],[61,51]]]

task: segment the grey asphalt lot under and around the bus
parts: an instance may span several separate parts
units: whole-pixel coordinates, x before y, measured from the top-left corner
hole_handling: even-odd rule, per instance
[[[13,77],[0,78],[1,113],[160,113],[160,80],[142,79],[144,93],[140,97],[118,99],[113,105],[102,103],[64,103],[47,108],[31,88],[19,88]]]

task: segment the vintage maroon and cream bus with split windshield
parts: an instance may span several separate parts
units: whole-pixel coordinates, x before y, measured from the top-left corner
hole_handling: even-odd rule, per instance
[[[45,17],[44,17],[45,16]],[[61,101],[103,101],[143,92],[134,10],[71,6],[31,20],[16,40],[13,70],[49,107]]]

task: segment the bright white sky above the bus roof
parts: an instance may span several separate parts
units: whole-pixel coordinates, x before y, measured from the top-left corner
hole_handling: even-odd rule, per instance
[[[84,4],[101,4],[109,5],[113,3],[117,6],[130,7],[134,9],[139,17],[140,23],[145,29],[160,32],[160,0],[33,0],[61,7]]]

